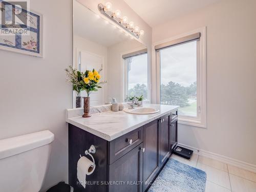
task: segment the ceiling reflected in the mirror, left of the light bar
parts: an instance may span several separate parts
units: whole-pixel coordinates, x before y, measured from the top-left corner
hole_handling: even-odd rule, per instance
[[[114,25],[107,22],[82,4],[74,1],[74,34],[109,47],[131,40]]]

